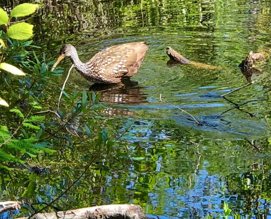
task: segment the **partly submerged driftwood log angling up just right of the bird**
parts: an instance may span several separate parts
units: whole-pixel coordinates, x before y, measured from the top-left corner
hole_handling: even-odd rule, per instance
[[[170,58],[169,61],[167,61],[167,65],[170,67],[174,66],[174,65],[179,65],[179,64],[191,64],[191,65],[198,67],[198,68],[205,68],[205,69],[217,69],[218,68],[217,66],[206,65],[206,64],[203,64],[200,62],[190,61],[187,58],[180,55],[178,52],[176,52],[171,47],[167,47],[166,52]]]

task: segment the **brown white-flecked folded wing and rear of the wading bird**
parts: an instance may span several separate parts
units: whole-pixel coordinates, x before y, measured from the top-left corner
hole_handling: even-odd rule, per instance
[[[131,77],[140,67],[148,46],[145,42],[129,43],[113,46],[98,52],[88,64],[99,72],[100,77]]]

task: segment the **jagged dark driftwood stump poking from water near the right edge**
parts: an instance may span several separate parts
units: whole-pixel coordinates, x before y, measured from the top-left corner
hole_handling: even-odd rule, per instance
[[[241,69],[242,74],[246,77],[248,83],[251,83],[251,77],[253,74],[262,74],[260,70],[252,67],[253,64],[256,61],[260,60],[262,57],[263,54],[253,53],[252,51],[250,51],[247,57],[240,63],[239,68]]]

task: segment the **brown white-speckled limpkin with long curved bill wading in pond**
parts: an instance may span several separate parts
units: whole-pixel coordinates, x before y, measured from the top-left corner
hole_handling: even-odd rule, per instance
[[[65,44],[51,71],[64,57],[69,57],[76,70],[87,80],[101,84],[120,83],[123,77],[132,77],[137,72],[148,48],[146,42],[116,45],[103,49],[83,63],[75,47]]]

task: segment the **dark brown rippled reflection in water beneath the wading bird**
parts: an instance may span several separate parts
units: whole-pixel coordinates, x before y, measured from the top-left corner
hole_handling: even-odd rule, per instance
[[[137,81],[122,79],[123,84],[93,84],[89,90],[101,92],[100,101],[107,104],[138,105],[147,103],[146,94],[142,93],[142,87]],[[111,108],[102,111],[109,115],[135,115],[135,112],[123,108]]]

